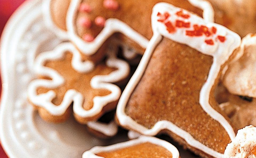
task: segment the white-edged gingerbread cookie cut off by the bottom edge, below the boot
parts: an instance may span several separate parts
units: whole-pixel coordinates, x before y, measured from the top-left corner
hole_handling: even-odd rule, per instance
[[[83,158],[104,157],[104,158],[179,158],[179,151],[167,141],[141,136],[138,139],[107,147],[94,147],[83,153]]]

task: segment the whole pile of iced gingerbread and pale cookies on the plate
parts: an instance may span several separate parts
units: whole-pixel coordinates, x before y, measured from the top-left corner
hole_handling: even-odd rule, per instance
[[[83,158],[178,158],[162,133],[201,157],[255,158],[256,2],[222,1],[45,0],[63,42],[35,59],[30,103],[97,137],[130,131]]]

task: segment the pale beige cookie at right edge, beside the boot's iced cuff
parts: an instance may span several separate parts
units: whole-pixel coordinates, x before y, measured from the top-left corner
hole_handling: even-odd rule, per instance
[[[256,98],[255,35],[249,34],[243,38],[239,54],[226,71],[223,84],[231,94]]]

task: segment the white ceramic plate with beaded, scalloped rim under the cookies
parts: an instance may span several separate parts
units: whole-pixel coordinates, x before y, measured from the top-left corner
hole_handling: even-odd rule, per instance
[[[66,123],[41,120],[26,100],[27,85],[37,54],[61,42],[43,24],[42,0],[25,2],[11,17],[1,38],[2,96],[0,139],[10,158],[80,158],[96,145],[127,140],[126,133],[102,140],[70,118]],[[174,144],[177,146],[177,144]],[[195,156],[178,147],[182,158]]]

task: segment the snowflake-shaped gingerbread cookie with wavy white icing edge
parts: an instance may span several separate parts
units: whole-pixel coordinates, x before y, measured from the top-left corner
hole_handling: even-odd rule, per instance
[[[53,51],[40,54],[35,72],[41,76],[29,84],[28,99],[46,121],[62,122],[71,113],[78,122],[99,119],[115,109],[121,95],[113,84],[129,75],[129,64],[109,52],[105,62],[94,64],[71,43],[62,43]]]

